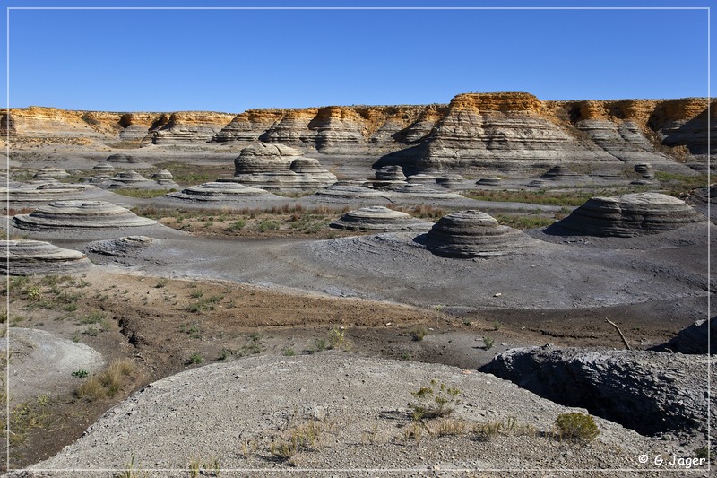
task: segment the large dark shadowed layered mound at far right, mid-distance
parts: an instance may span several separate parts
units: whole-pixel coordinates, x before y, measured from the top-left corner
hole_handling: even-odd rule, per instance
[[[554,234],[630,238],[675,230],[705,218],[684,201],[659,193],[592,197],[545,231]]]

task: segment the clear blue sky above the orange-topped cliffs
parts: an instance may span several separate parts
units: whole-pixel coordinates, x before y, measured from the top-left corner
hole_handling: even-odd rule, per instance
[[[704,7],[715,2],[0,4]],[[250,108],[447,103],[467,91],[528,91],[542,100],[708,94],[704,9],[4,11],[9,12],[10,25],[11,107],[237,113]]]

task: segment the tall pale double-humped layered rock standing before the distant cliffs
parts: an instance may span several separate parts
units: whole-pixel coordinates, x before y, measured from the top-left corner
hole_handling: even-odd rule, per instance
[[[255,143],[234,160],[233,181],[269,191],[300,193],[331,186],[336,177],[318,160],[283,144]]]

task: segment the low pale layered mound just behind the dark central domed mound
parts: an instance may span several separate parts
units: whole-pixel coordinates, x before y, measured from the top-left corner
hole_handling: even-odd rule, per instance
[[[350,211],[330,226],[349,230],[428,230],[433,223],[384,206],[370,206]]]

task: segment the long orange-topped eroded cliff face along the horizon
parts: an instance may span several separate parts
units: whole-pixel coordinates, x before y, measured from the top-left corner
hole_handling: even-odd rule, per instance
[[[408,172],[520,171],[706,162],[708,137],[717,144],[717,126],[707,131],[707,106],[700,98],[542,101],[501,92],[460,94],[448,105],[250,109],[239,115],[30,107],[0,112],[0,133],[20,150],[38,144],[241,147],[262,141],[373,158],[376,166],[398,164]]]

